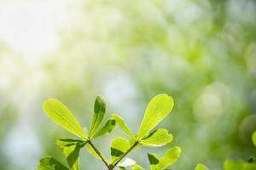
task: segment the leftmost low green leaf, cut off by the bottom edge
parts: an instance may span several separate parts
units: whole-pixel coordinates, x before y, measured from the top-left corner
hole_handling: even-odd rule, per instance
[[[51,156],[44,156],[38,164],[38,170],[68,170],[68,168]]]

